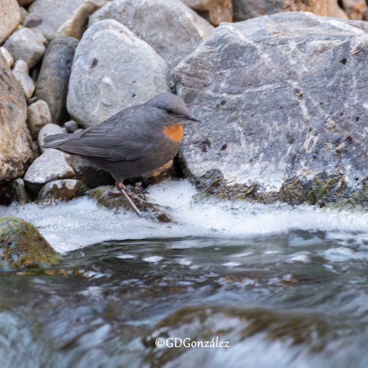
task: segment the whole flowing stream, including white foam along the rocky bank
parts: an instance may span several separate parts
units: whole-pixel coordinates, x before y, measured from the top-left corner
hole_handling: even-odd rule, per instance
[[[171,223],[86,197],[0,207],[66,254],[1,276],[1,368],[368,366],[367,212],[149,190]]]

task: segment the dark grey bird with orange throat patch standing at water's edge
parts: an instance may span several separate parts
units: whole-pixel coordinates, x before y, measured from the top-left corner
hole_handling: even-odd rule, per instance
[[[172,160],[183,141],[185,120],[201,122],[179,96],[161,93],[83,131],[49,135],[42,148],[82,156],[96,168],[109,172],[118,193],[141,216],[130,196],[139,197],[127,192],[123,181],[149,173]]]

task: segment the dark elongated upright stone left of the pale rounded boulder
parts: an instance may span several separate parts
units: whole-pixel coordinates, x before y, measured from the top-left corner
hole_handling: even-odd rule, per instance
[[[71,66],[78,40],[68,36],[50,42],[42,60],[35,96],[47,102],[55,124],[69,120],[67,93]]]

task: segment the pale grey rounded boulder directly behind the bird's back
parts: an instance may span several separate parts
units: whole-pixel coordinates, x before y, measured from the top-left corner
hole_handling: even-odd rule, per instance
[[[169,71],[155,50],[114,20],[93,24],[75,51],[67,109],[83,127],[169,92]]]

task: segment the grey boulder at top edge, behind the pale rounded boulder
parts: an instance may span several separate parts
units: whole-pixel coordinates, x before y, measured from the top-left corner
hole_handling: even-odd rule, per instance
[[[114,0],[93,14],[89,25],[103,19],[128,27],[152,46],[170,70],[213,31],[212,25],[179,0]]]

